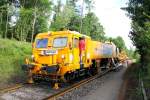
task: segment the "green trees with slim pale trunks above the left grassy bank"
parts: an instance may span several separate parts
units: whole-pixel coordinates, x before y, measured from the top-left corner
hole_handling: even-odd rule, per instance
[[[35,33],[48,31],[51,5],[49,0],[1,0],[0,35],[31,41]]]

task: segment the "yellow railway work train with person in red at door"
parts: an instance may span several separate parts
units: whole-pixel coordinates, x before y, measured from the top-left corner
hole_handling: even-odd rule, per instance
[[[40,33],[32,48],[32,60],[22,66],[28,82],[46,79],[67,82],[83,75],[94,75],[120,66],[119,49],[112,42],[93,41],[75,31]]]

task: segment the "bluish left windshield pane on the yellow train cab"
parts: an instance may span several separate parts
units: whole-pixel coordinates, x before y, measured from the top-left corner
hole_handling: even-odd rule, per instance
[[[46,48],[48,43],[48,39],[37,39],[36,40],[36,48]]]

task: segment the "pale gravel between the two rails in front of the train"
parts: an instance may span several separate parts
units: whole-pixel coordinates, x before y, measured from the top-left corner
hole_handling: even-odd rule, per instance
[[[48,85],[28,85],[16,91],[1,94],[0,100],[42,100],[60,90],[54,90]]]

